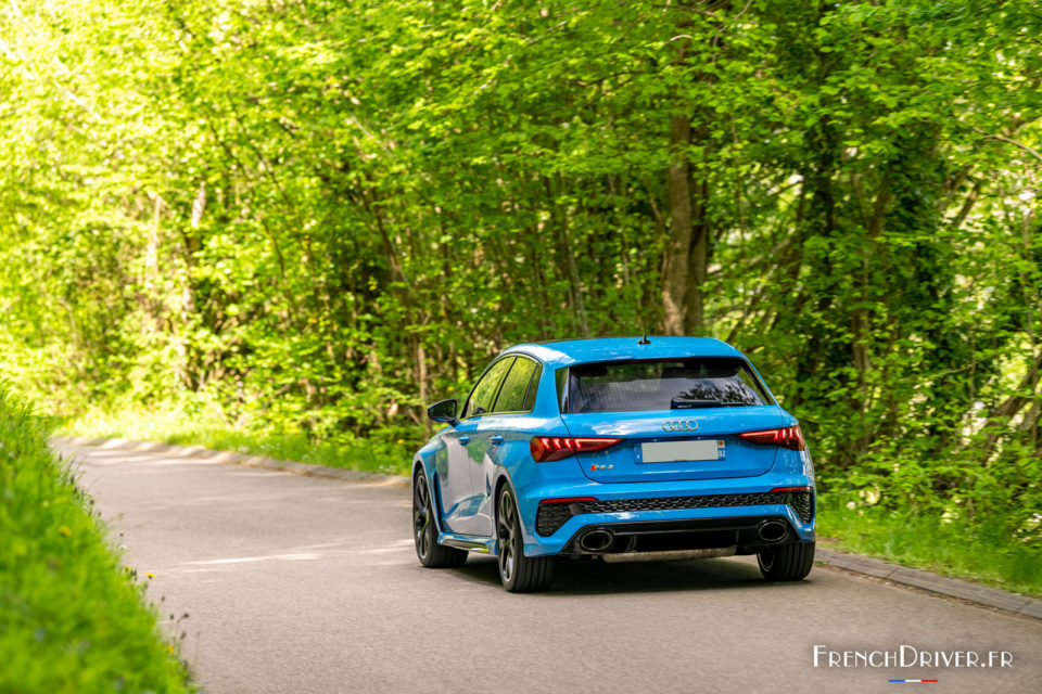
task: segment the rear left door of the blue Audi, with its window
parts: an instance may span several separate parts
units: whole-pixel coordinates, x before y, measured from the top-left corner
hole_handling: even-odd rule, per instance
[[[492,412],[482,415],[478,424],[475,438],[486,450],[481,464],[471,467],[472,494],[478,503],[472,527],[478,535],[491,537],[494,530],[492,483],[496,465],[503,463],[504,457],[525,454],[529,450],[532,423],[526,414],[535,403],[541,373],[538,362],[518,356],[503,380]]]

